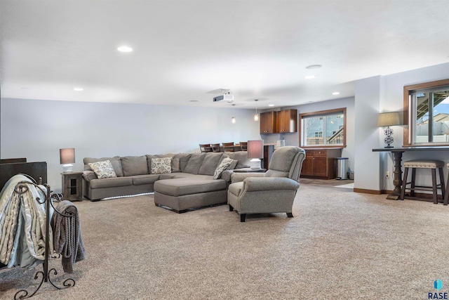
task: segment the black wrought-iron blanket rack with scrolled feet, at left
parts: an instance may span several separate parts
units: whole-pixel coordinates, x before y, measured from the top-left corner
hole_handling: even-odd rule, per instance
[[[53,214],[60,214],[61,216],[65,216],[67,218],[72,218],[73,216],[76,215],[76,211],[74,212],[74,214],[64,214],[60,211],[58,211],[58,209],[56,209],[53,206],[53,200],[55,201],[60,201],[62,200],[62,195],[61,194],[52,194],[51,190],[50,190],[50,185],[44,183],[43,186],[46,187],[46,192],[41,188],[41,178],[39,178],[39,185],[36,184],[36,181],[34,180],[34,178],[32,178],[31,176],[28,176],[26,174],[22,174],[27,176],[28,178],[30,178],[33,182],[27,182],[27,181],[21,181],[20,183],[18,183],[17,185],[15,185],[14,188],[14,193],[18,193],[20,194],[20,197],[22,197],[21,195],[23,193],[26,193],[28,190],[28,186],[27,185],[34,185],[36,188],[39,188],[39,190],[42,191],[42,193],[44,195],[46,195],[45,199],[41,200],[39,199],[39,197],[36,198],[36,201],[39,202],[39,204],[44,204],[46,203],[46,228],[45,228],[45,259],[43,260],[43,270],[41,271],[37,271],[36,274],[34,275],[34,280],[39,279],[39,275],[42,276],[41,278],[41,282],[39,283],[39,286],[37,287],[37,289],[28,296],[28,291],[26,289],[20,289],[20,291],[18,291],[17,293],[15,293],[14,295],[14,299],[27,299],[27,298],[31,298],[32,296],[34,296],[34,294],[36,294],[37,291],[39,291],[39,289],[41,288],[43,282],[50,282],[51,285],[53,285],[53,287],[57,288],[57,289],[67,289],[69,287],[74,287],[75,285],[75,280],[73,280],[72,278],[68,278],[66,279],[64,282],[62,282],[62,287],[58,287],[57,285],[55,285],[54,282],[51,281],[50,275],[51,273],[53,273],[53,275],[58,275],[58,272],[56,271],[55,268],[51,268],[50,270],[48,270],[48,259],[50,258],[50,254],[48,253],[50,251],[50,238],[49,238],[49,231],[50,231],[50,218],[48,216],[50,216],[50,205],[53,207],[54,211]],[[75,207],[76,209],[76,207]],[[53,242],[53,241],[52,241]]]

